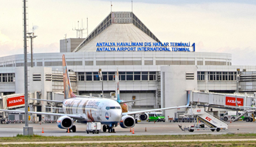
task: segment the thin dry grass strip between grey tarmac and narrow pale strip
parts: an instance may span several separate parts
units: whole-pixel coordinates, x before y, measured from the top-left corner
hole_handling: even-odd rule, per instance
[[[193,139],[256,139],[256,134],[223,135],[110,135],[110,136],[43,136],[20,135],[0,137],[0,142],[38,142],[38,141],[144,141],[144,140],[193,140]]]

